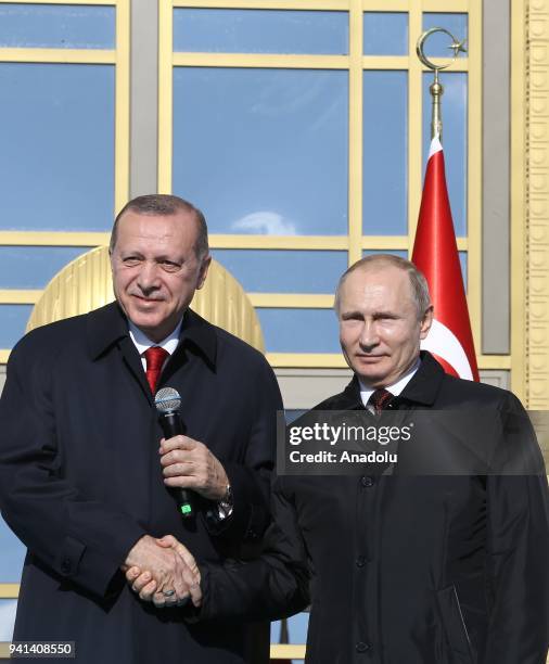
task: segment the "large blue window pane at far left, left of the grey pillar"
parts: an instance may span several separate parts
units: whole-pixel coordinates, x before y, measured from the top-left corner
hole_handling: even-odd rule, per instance
[[[114,65],[0,64],[2,230],[111,230],[114,74]]]

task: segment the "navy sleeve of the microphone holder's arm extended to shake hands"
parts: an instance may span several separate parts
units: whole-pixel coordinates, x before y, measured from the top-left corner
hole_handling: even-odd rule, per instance
[[[131,518],[88,500],[65,476],[52,399],[54,362],[36,344],[10,356],[0,399],[0,508],[29,553],[95,596],[104,597],[144,531]]]

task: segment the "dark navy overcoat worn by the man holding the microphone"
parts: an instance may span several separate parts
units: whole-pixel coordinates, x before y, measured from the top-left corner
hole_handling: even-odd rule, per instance
[[[186,314],[158,387],[182,397],[188,435],[225,465],[234,512],[183,522],[163,484],[153,397],[116,304],[39,328],[13,349],[0,401],[0,507],[28,548],[15,640],[76,641],[78,662],[241,663],[245,625],[188,627],[155,610],[119,565],[144,534],[171,533],[199,558],[235,556],[269,519],[274,417],[265,358]]]

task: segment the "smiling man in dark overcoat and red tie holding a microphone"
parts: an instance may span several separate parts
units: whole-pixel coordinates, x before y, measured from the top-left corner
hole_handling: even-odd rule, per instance
[[[161,538],[210,562],[260,538],[278,385],[260,353],[189,308],[210,263],[193,205],[130,202],[111,263],[115,303],[36,329],[10,356],[0,507],[28,549],[13,640],[72,641],[82,664],[242,663],[245,624],[183,621],[187,571]],[[154,406],[166,385],[186,427],[168,440]],[[194,518],[175,486],[192,490]],[[128,587],[130,565],[157,584],[156,605]]]

